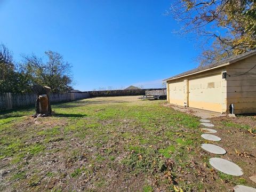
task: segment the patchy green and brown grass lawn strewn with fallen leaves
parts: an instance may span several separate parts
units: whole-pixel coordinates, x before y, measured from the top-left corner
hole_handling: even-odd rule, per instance
[[[52,117],[31,118],[34,108],[0,114],[0,190],[228,191],[253,185],[246,169],[242,178],[213,170],[212,155],[200,147],[199,118],[164,103],[92,98],[53,105]],[[246,132],[251,124],[238,125],[222,119],[217,128],[253,137]],[[247,162],[242,167],[255,161],[241,158]]]

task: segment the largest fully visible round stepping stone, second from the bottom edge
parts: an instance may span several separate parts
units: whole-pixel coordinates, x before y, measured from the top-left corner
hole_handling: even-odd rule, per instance
[[[214,158],[210,158],[209,162],[215,169],[223,173],[234,175],[234,176],[243,175],[243,171],[238,165],[226,159],[214,157]]]

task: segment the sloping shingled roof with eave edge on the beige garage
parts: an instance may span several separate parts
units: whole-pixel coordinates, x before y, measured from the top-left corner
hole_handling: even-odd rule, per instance
[[[177,78],[180,78],[180,77],[183,77],[183,76],[189,76],[189,75],[193,75],[195,73],[201,73],[201,72],[206,71],[206,70],[211,70],[211,69],[214,69],[214,68],[230,65],[231,63],[234,63],[234,62],[237,62],[239,60],[251,57],[254,54],[256,54],[256,50],[248,51],[246,53],[242,53],[242,54],[235,55],[235,56],[227,58],[227,59],[223,59],[223,60],[218,61],[218,62],[211,63],[210,65],[207,65],[207,66],[204,66],[204,67],[197,67],[195,69],[188,70],[188,71],[183,72],[181,74],[178,74],[178,75],[169,77],[167,79],[164,79],[164,81],[168,81],[168,80],[171,80],[171,79],[177,79]]]

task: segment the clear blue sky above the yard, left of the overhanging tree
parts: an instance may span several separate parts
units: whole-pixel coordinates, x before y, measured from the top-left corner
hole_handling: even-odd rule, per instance
[[[21,54],[61,53],[73,65],[75,89],[160,87],[195,68],[195,42],[164,15],[171,0],[0,0],[0,43]]]

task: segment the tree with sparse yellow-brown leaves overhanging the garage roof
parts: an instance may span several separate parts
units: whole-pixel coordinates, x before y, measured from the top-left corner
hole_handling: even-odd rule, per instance
[[[179,34],[195,34],[203,45],[202,65],[256,49],[253,0],[175,0],[170,13],[181,25]]]

